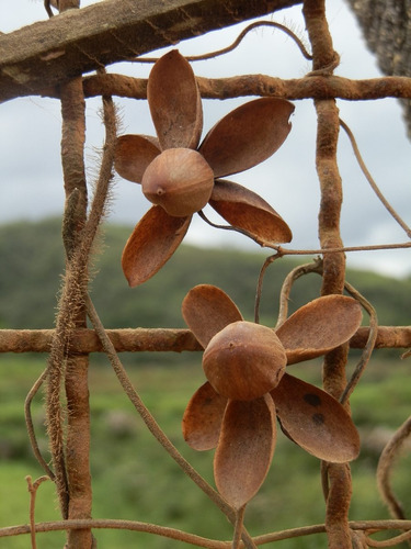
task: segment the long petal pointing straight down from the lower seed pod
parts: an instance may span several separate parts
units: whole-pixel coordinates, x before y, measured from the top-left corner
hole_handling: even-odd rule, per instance
[[[275,440],[275,406],[269,394],[250,402],[228,402],[214,458],[214,478],[219,493],[236,509],[246,505],[264,482]]]

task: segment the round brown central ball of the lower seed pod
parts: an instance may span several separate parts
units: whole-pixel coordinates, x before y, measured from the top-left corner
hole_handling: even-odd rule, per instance
[[[227,399],[251,401],[276,386],[287,358],[275,332],[239,321],[218,332],[203,355],[207,380]]]

